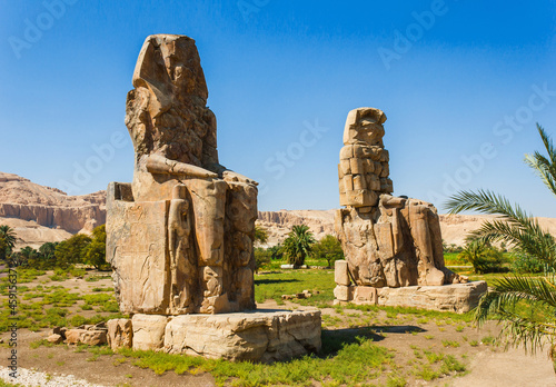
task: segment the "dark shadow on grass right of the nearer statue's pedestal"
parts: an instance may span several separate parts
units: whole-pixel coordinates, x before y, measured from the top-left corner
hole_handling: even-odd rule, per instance
[[[361,343],[361,339],[371,339],[379,343],[385,339],[381,334],[410,334],[424,333],[425,329],[411,325],[400,326],[370,326],[361,328],[344,328],[322,330],[322,348],[320,350],[321,357],[336,355],[346,345]]]

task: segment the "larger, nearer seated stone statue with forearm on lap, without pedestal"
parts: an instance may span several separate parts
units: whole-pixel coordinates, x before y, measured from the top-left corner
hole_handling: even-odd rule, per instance
[[[218,161],[195,41],[148,37],[128,93],[131,185],[108,190],[107,251],[120,310],[255,308],[257,183]]]

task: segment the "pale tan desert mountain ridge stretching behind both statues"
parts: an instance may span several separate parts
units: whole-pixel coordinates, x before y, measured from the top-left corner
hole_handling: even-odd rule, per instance
[[[291,227],[307,225],[317,239],[334,235],[336,210],[259,211],[257,225],[267,229],[266,246],[282,242]],[[480,227],[484,215],[440,215],[443,239],[463,245],[466,235]],[[556,235],[555,218],[537,218],[540,226]],[[106,222],[106,191],[68,196],[50,187],[37,185],[13,173],[0,172],[0,225],[16,230],[17,247],[39,247],[60,241],[77,232],[90,232]]]

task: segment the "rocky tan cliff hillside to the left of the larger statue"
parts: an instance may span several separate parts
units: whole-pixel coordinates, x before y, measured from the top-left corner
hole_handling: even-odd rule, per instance
[[[63,240],[105,221],[105,191],[68,196],[57,188],[0,172],[0,225],[16,230],[18,247]]]

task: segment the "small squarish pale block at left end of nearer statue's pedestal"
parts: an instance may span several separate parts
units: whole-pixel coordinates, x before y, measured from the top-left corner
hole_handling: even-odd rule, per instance
[[[160,315],[133,315],[131,326],[133,329],[135,350],[159,350],[163,347],[165,330],[168,317]]]

